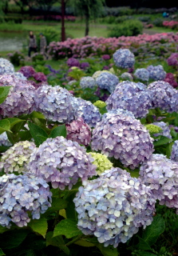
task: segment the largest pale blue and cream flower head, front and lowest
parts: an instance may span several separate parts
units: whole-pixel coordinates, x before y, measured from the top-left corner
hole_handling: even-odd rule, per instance
[[[105,170],[86,182],[73,199],[78,213],[77,227],[97,237],[104,246],[117,247],[152,223],[155,199],[148,186],[120,168]]]

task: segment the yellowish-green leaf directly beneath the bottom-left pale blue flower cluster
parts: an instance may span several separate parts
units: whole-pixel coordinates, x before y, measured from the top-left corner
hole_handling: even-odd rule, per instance
[[[30,226],[30,228],[34,230],[34,232],[42,234],[43,238],[45,238],[45,234],[48,230],[48,223],[45,218],[32,219],[28,223],[28,226]]]

